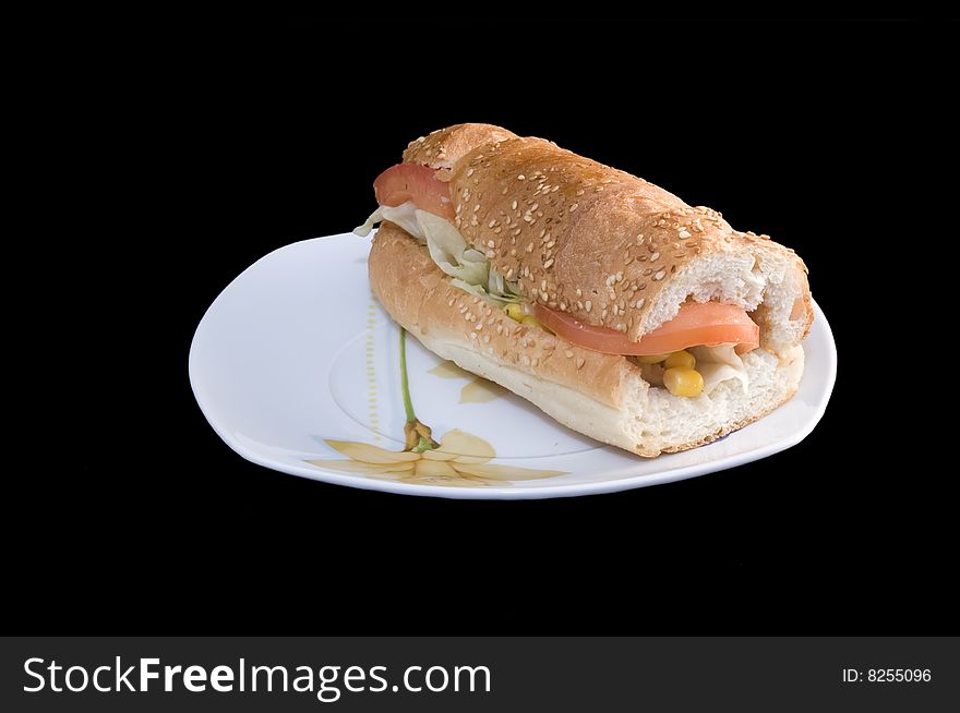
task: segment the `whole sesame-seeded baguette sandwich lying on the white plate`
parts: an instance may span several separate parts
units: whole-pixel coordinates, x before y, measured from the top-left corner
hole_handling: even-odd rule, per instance
[[[575,431],[652,457],[796,392],[806,268],[716,210],[488,124],[412,142],[374,193],[391,316]]]

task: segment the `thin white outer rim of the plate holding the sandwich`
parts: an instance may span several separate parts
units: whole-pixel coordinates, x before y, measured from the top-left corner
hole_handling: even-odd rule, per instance
[[[202,392],[203,389],[197,386],[199,377],[196,376],[194,368],[196,359],[195,354],[197,350],[197,338],[201,335],[201,330],[203,329],[204,324],[209,318],[209,315],[213,312],[214,307],[216,307],[217,303],[224,299],[224,295],[229,292],[229,290],[233,287],[236,282],[242,279],[248,271],[252,270],[261,262],[268,259],[275,253],[292,249],[297,245],[303,245],[304,243],[312,243],[321,240],[326,241],[331,238],[343,238],[345,235],[351,235],[351,233],[337,233],[334,235],[325,235],[295,241],[286,245],[276,247],[275,250],[266,253],[255,262],[251,263],[239,275],[230,280],[230,282],[223,290],[220,290],[219,294],[217,294],[213,302],[211,302],[209,306],[204,311],[203,316],[201,317],[200,322],[196,325],[196,329],[193,333],[193,337],[191,338],[190,352],[188,356],[188,373],[190,378],[190,388],[193,391],[193,397],[196,400],[197,406],[200,407],[201,413],[203,413],[203,416],[214,430],[214,433],[216,433],[220,437],[220,439],[230,447],[230,449],[232,449],[244,460],[248,460],[263,468],[287,473],[289,475],[297,475],[313,481],[329,483],[333,485],[356,487],[365,491],[377,491],[382,493],[394,493],[397,495],[418,495],[428,497],[444,497],[452,499],[526,500],[620,493],[623,491],[636,490],[639,487],[648,487],[651,485],[660,485],[663,483],[673,483],[698,475],[719,473],[724,470],[730,470],[731,468],[736,468],[739,466],[744,466],[746,463],[768,458],[769,456],[792,448],[804,438],[806,438],[811,433],[813,433],[814,428],[824,418],[824,414],[827,411],[827,404],[829,403],[830,397],[833,394],[833,386],[837,382],[837,342],[833,339],[833,331],[830,328],[830,323],[827,321],[827,317],[820,309],[819,304],[817,304],[816,300],[812,298],[811,301],[814,309],[814,325],[819,324],[820,327],[824,329],[824,334],[827,339],[827,346],[829,347],[829,349],[827,350],[826,389],[824,391],[823,398],[816,406],[816,410],[813,416],[809,419],[807,425],[805,425],[803,428],[800,428],[799,431],[792,432],[789,437],[778,440],[775,444],[769,444],[767,446],[752,449],[737,456],[732,456],[719,468],[716,467],[717,461],[706,461],[703,463],[693,463],[689,466],[676,468],[664,473],[628,475],[615,480],[601,480],[589,483],[568,483],[565,485],[544,485],[542,487],[526,488],[502,486],[472,488],[451,487],[448,485],[423,485],[420,483],[404,483],[400,481],[377,480],[372,478],[363,478],[360,475],[335,473],[332,471],[323,470],[320,467],[307,468],[305,466],[291,466],[288,463],[278,462],[276,460],[271,460],[269,458],[244,446],[232,434],[227,433],[224,428],[221,428],[216,420],[211,416],[211,412],[213,409],[211,404],[206,402],[206,399]],[[793,398],[795,398],[795,396]],[[605,446],[605,448],[611,448],[611,446]]]

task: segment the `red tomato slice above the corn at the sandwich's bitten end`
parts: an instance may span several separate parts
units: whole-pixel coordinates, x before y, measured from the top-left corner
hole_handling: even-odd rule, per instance
[[[584,324],[566,312],[535,306],[537,318],[551,330],[585,349],[604,354],[667,354],[699,345],[739,345],[737,352],[760,345],[760,328],[741,307],[720,302],[688,302],[670,322],[660,325],[639,341],[622,331]]]

